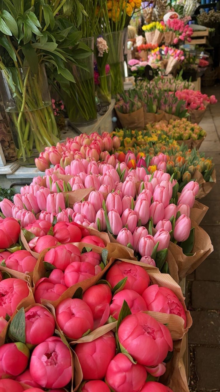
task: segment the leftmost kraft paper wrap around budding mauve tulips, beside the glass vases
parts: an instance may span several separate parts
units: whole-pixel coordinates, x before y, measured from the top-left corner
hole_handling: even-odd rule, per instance
[[[120,113],[117,110],[117,106],[114,107],[118,120],[122,124],[123,128],[129,128],[129,129],[138,129],[141,130],[144,127],[144,112],[143,112],[143,106],[136,110],[133,113]]]

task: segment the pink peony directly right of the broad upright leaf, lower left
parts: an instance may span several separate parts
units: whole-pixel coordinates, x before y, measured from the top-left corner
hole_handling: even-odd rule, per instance
[[[38,345],[50,338],[54,330],[55,320],[47,309],[34,306],[25,312],[26,344]]]

